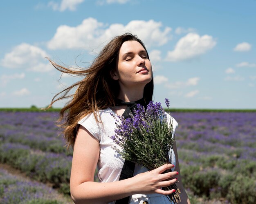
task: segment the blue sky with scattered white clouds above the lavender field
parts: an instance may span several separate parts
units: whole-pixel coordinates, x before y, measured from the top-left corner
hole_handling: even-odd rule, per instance
[[[255,0],[2,0],[0,107],[47,106],[110,38],[144,41],[154,101],[172,108],[256,109]],[[62,107],[66,101],[54,107]]]

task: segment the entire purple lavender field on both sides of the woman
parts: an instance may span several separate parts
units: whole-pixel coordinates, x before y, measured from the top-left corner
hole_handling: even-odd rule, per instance
[[[36,180],[45,195],[51,184],[68,195],[72,152],[67,152],[54,121],[56,112],[0,112],[0,162]],[[182,182],[191,203],[256,202],[256,112],[173,112]],[[22,194],[30,183],[0,170],[0,203],[63,203],[36,193]],[[7,182],[4,178],[8,181]],[[22,181],[23,182],[23,181]],[[23,187],[25,186],[25,187]],[[33,189],[33,188],[32,188]],[[26,192],[29,190],[26,190]],[[37,192],[36,190],[31,190]],[[12,198],[7,199],[11,192]],[[23,192],[23,191],[22,191]],[[37,196],[37,197],[36,197]],[[29,201],[31,197],[32,201]]]

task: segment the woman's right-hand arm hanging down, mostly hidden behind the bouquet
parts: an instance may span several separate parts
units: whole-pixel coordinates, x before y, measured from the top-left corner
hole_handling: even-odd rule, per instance
[[[175,171],[179,172],[179,175],[177,175],[178,178],[178,182],[176,183],[177,187],[180,189],[181,193],[180,193],[180,200],[181,203],[180,204],[190,204],[188,195],[186,194],[186,191],[183,187],[182,181],[181,181],[181,175],[180,175],[180,165],[179,165],[179,159],[178,159],[178,153],[177,153],[177,147],[176,147],[176,142],[174,142],[173,145],[173,151],[175,154],[175,158],[176,158],[176,166],[175,166]]]

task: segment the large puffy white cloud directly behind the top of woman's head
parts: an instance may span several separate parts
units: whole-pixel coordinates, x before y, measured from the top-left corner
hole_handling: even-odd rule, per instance
[[[92,50],[92,47],[102,45],[115,35],[131,32],[138,35],[147,47],[161,46],[171,39],[170,27],[162,28],[161,22],[154,20],[132,20],[127,25],[103,24],[94,18],[84,19],[82,24],[72,27],[61,25],[57,28],[54,37],[47,43],[49,49],[83,48]]]

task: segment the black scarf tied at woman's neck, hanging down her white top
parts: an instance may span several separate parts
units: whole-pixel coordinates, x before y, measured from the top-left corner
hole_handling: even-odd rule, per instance
[[[130,114],[133,114],[133,115],[135,114],[134,110],[137,107],[138,103],[140,105],[143,105],[146,108],[146,103],[145,103],[144,99],[140,99],[140,100],[135,101],[135,102],[124,102],[120,99],[115,99],[115,103],[116,103],[115,105],[127,105],[126,110],[122,114],[122,116],[124,116],[124,118],[129,118]],[[122,171],[121,171],[119,181],[127,179],[127,178],[131,178],[133,176],[133,173],[134,173],[134,168],[135,168],[135,163],[134,162],[131,162],[129,160],[125,160],[124,161],[124,166],[123,166]],[[124,197],[120,200],[117,200],[115,204],[128,204],[129,199],[130,199],[130,196]]]

